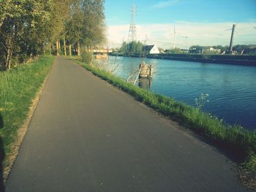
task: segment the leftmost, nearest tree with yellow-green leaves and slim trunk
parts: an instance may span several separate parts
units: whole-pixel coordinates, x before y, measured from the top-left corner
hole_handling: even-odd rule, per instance
[[[1,15],[0,52],[4,55],[2,59],[6,69],[10,69],[14,56],[17,60],[18,55],[39,52],[44,39],[42,26],[50,20],[50,13],[44,10],[50,5],[51,1],[10,0],[5,2],[6,7],[1,7],[4,14]]]

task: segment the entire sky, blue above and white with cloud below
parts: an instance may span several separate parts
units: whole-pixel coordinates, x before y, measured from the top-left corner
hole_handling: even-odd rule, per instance
[[[136,6],[136,40],[168,49],[192,45],[256,45],[256,0],[105,0],[108,47],[127,41],[131,5]]]

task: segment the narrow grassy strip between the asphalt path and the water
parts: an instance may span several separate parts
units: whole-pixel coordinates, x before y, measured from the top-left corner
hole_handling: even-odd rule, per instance
[[[103,80],[134,96],[135,99],[148,105],[148,107],[178,121],[186,128],[203,134],[218,147],[225,148],[225,150],[230,150],[232,153],[243,157],[246,168],[251,171],[256,170],[256,132],[247,131],[241,126],[226,125],[222,120],[212,117],[206,112],[201,112],[195,107],[175,101],[167,96],[151,93],[124,82],[113,74],[77,60],[76,62]]]

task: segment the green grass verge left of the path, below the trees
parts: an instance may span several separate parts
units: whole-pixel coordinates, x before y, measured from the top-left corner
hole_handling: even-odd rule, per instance
[[[28,116],[32,101],[50,72],[53,59],[45,56],[30,64],[0,72],[0,139],[3,143],[0,147],[3,147],[6,159],[17,139],[18,129]],[[4,166],[7,164],[5,161]]]

